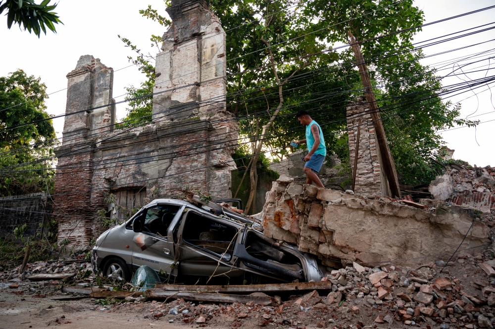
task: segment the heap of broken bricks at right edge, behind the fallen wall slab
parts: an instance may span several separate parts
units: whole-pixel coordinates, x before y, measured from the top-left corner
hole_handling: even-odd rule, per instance
[[[452,167],[452,168],[450,168]],[[435,199],[470,207],[483,214],[495,213],[495,169],[451,164],[430,184]]]

